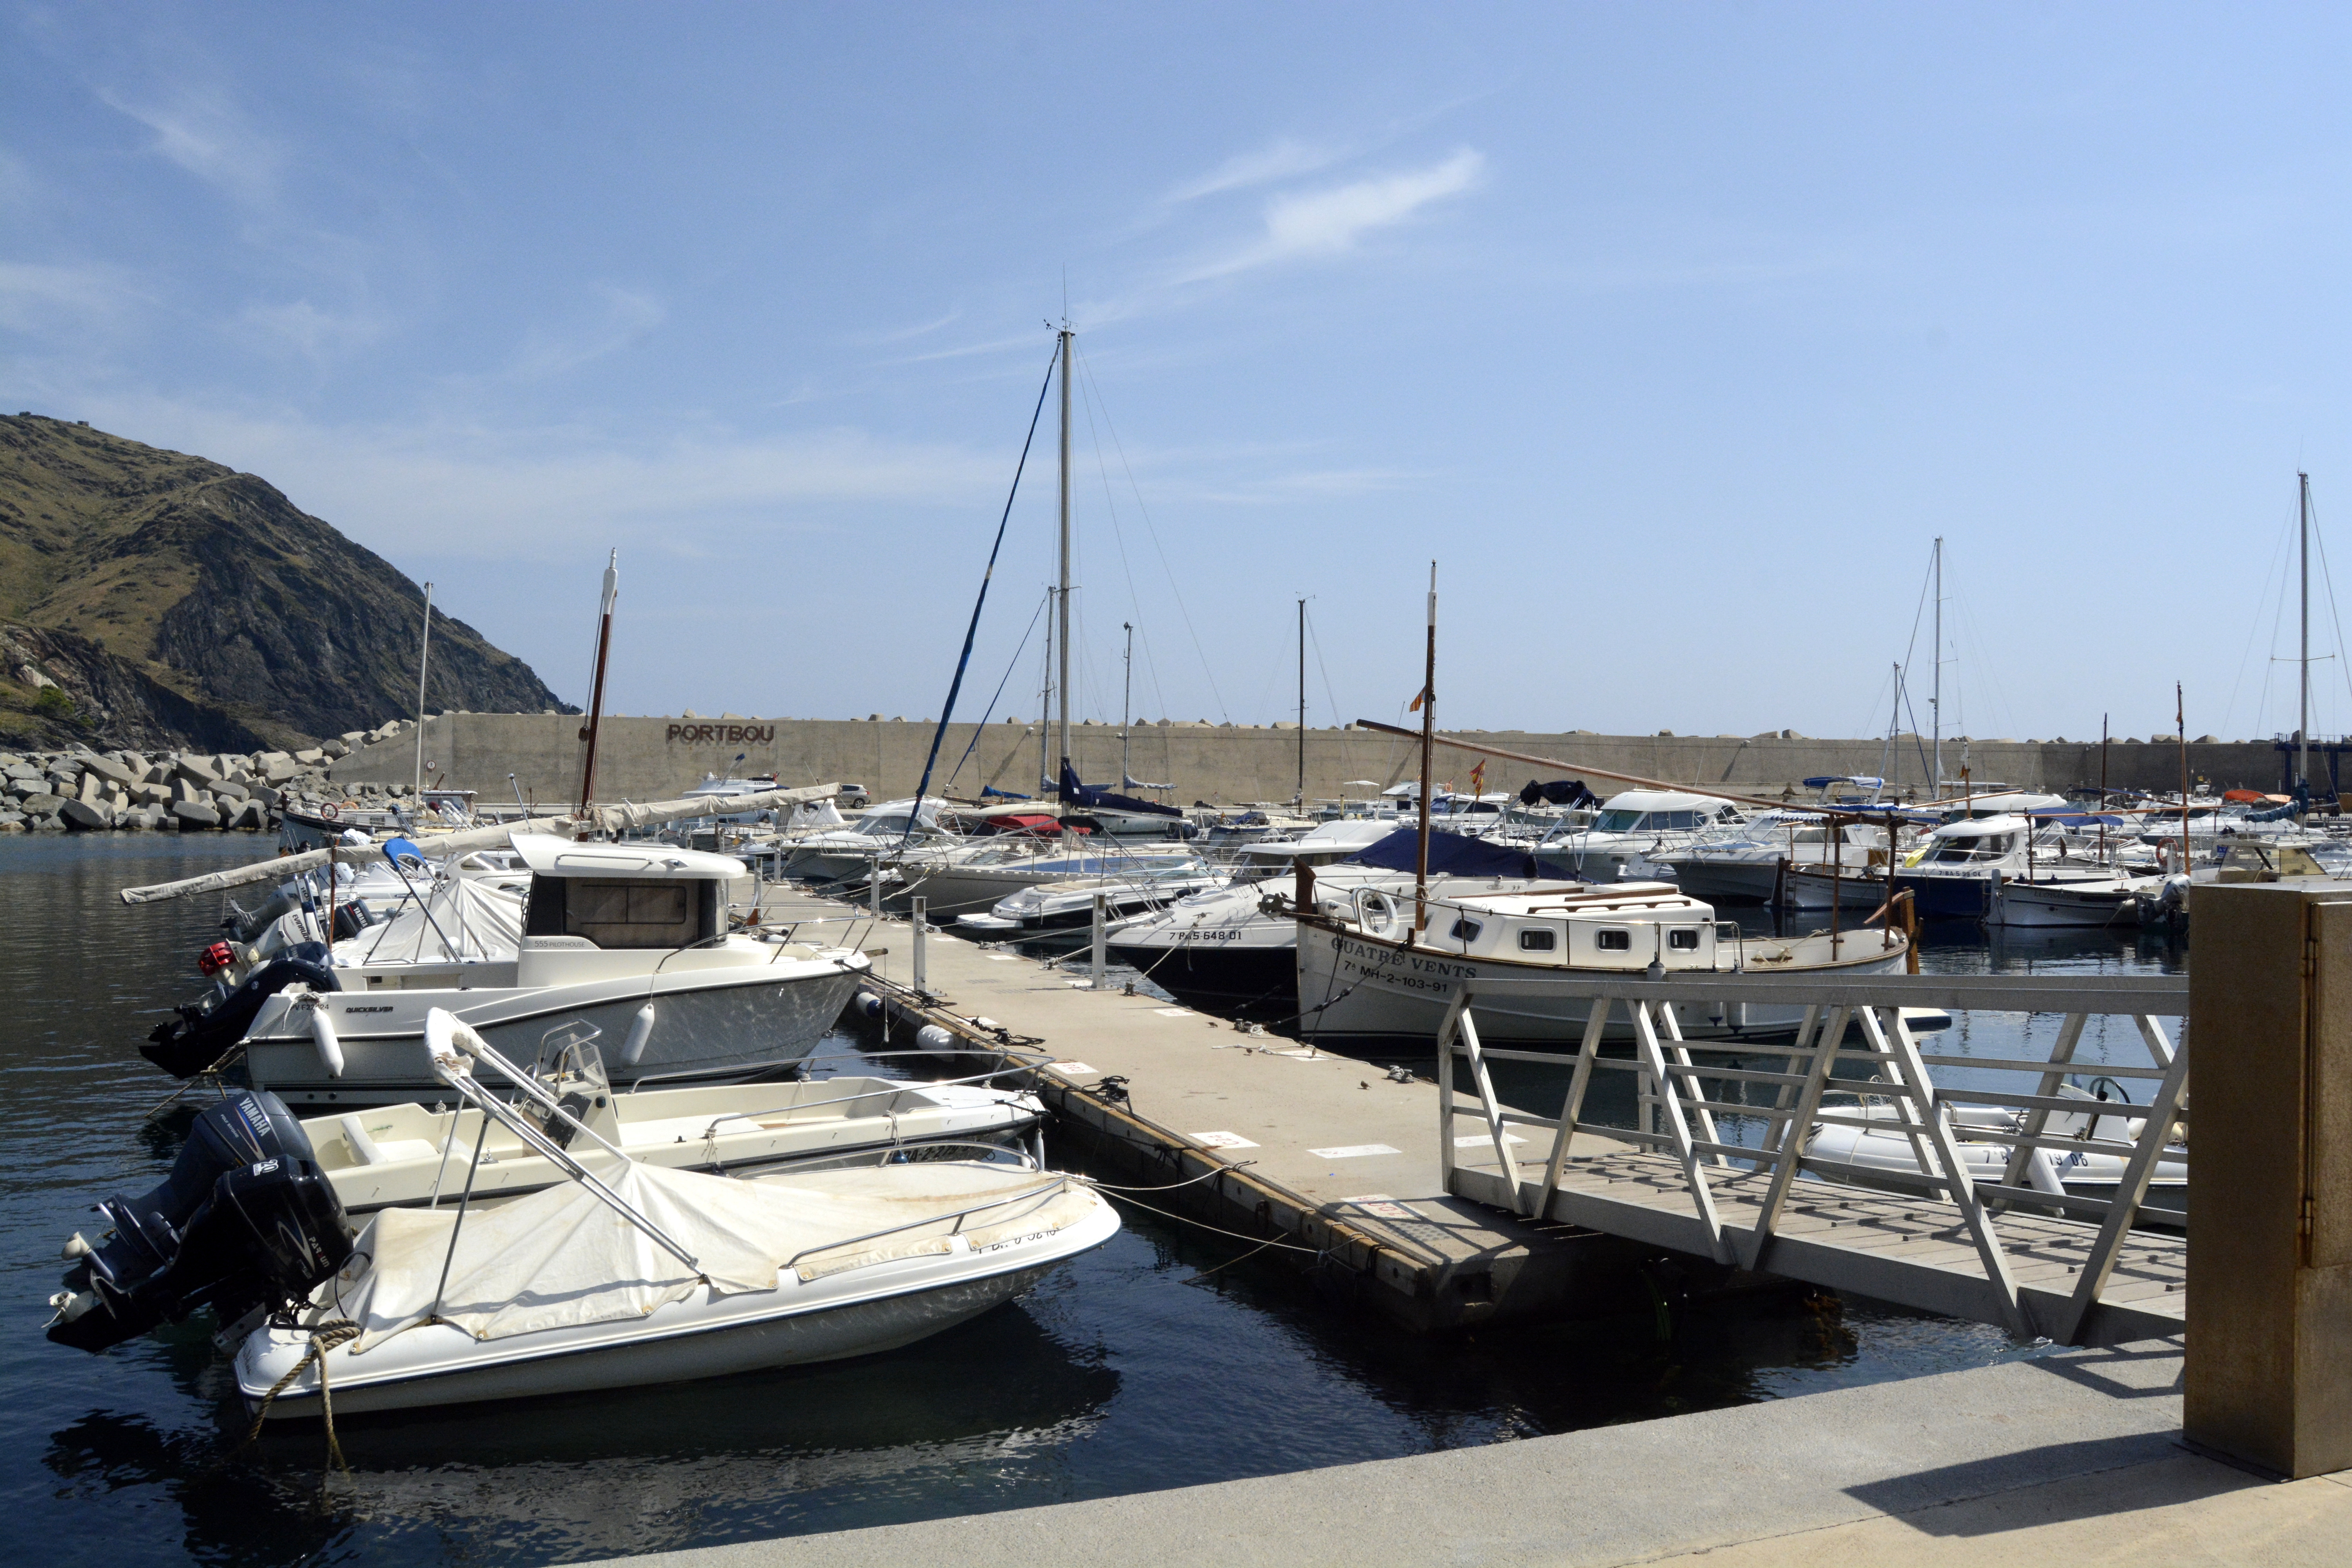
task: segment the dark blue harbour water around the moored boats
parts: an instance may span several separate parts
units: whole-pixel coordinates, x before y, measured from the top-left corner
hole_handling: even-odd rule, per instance
[[[245,1418],[209,1331],[85,1356],[40,1326],[89,1204],[162,1178],[169,1084],[136,1053],[195,987],[212,900],[115,889],[256,839],[5,839],[0,990],[0,1559],[548,1563],[1101,1497],[1646,1420],[2027,1354],[1870,1302],[1418,1340],[1345,1316],[1223,1237],[1129,1213],[1028,1300],[922,1345],[720,1385],[346,1420]],[[1936,933],[1931,969],[2147,973],[2131,938]],[[1971,1018],[1943,1048],[2046,1046],[2053,1020]],[[840,1048],[854,1048],[847,1037]],[[2086,1056],[2140,1060],[2136,1039]],[[1541,1086],[1529,1084],[1531,1098]]]

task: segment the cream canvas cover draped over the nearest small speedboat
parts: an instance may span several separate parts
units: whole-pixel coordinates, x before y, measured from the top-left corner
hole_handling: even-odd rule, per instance
[[[1061,1229],[1101,1201],[1035,1171],[948,1161],[814,1171],[790,1180],[734,1180],[612,1157],[597,1164],[607,1187],[699,1267],[673,1258],[588,1187],[564,1182],[473,1208],[463,1227],[456,1204],[386,1208],[367,1222],[350,1265],[320,1286],[313,1305],[360,1326],[350,1354],[435,1316],[475,1340],[506,1340],[644,1319],[706,1281],[715,1298],[774,1291],[779,1269],[795,1258],[795,1274],[809,1281],[889,1258],[946,1253],[955,1220],[934,1215],[990,1199],[1021,1201],[969,1215],[962,1234],[974,1248],[1009,1234]]]

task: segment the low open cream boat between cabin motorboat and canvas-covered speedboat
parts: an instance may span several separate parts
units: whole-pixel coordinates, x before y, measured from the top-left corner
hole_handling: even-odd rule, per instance
[[[1016,1143],[1044,1117],[1044,1105],[1025,1091],[873,1077],[635,1093],[612,1093],[600,1081],[557,1088],[579,1095],[574,1114],[604,1143],[680,1171],[748,1171],[927,1143]],[[569,1180],[499,1121],[485,1128],[477,1110],[381,1105],[301,1126],[346,1213],[449,1197],[466,1180],[473,1150],[480,1150],[477,1199]]]

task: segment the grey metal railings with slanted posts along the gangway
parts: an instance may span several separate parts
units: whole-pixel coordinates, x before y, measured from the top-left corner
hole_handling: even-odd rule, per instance
[[[1475,1119],[1494,1143],[1496,1164],[1522,1215],[1550,1215],[1578,1138],[1632,1145],[1663,1152],[1682,1168],[1691,1206],[1717,1262],[1745,1269],[1771,1269],[1776,1227],[1788,1211],[1799,1175],[1832,1180],[1867,1180],[1875,1187],[1900,1187],[1952,1206],[1959,1213],[1985,1281],[1992,1286],[2004,1326],[2016,1335],[2049,1335],[2072,1345],[2084,1319],[2098,1302],[2114,1269],[2126,1232],[2140,1220],[2150,1178],[2159,1161],[2187,1164],[2187,1147],[2176,1138],[2187,1112],[2190,1051],[2187,1039],[2173,1039],[2164,1018],[2187,1016],[2185,976],[1882,976],[1867,980],[1802,980],[1764,976],[1675,976],[1646,980],[1628,976],[1510,978],[1468,980],[1456,990],[1437,1030],[1437,1157],[1446,1190],[1454,1190],[1456,1119]],[[1486,1046],[1477,1032],[1482,1004],[1515,999],[1588,1001],[1585,1027],[1569,1058],[1559,1051],[1515,1051]],[[1745,1006],[1743,1006],[1745,1004]],[[1780,1041],[1738,1037],[1689,1039],[1686,1023],[1715,1027],[1726,1016],[1752,1016],[1757,1009],[1797,1011],[1797,1023]],[[2051,1056],[1987,1058],[1922,1051],[1912,1034],[1907,1009],[2056,1013],[2060,1018]],[[2091,1018],[2131,1018],[2147,1048],[2147,1065],[2077,1063],[2084,1027]],[[1849,1041],[1849,1034],[1858,1037]],[[1604,1039],[1630,1037],[1632,1056],[1602,1056]],[[1708,1065],[1705,1053],[1776,1056],[1778,1070]],[[1454,1084],[1456,1063],[1468,1063],[1475,1098],[1463,1100]],[[1541,1117],[1503,1105],[1494,1093],[1489,1063],[1573,1065],[1557,1117]],[[1839,1065],[1867,1067],[1867,1079],[1839,1077]],[[1959,1088],[1938,1086],[1929,1067],[1969,1067],[2011,1079],[2030,1079],[2030,1088]],[[1639,1126],[1604,1126],[1585,1117],[1585,1100],[1597,1072],[1635,1074]],[[2074,1072],[2110,1079],[2154,1081],[2152,1100],[2143,1105],[2070,1100],[2058,1088]],[[1729,1103],[1708,1091],[1708,1081],[1731,1081],[1771,1091],[1771,1103]],[[1884,1098],[1886,1117],[1825,1105],[1832,1091],[1853,1088]],[[1955,1107],[2006,1107],[2009,1119],[1978,1117],[1955,1126]],[[1752,1117],[1764,1121],[1757,1145],[1726,1143],[1715,1117]],[[2084,1114],[2084,1135],[2053,1135],[2053,1114]],[[2138,1119],[2136,1138],[2098,1135],[2110,1121]],[[1529,1180],[1512,1154],[1510,1128],[1552,1133],[1550,1154],[1538,1178]],[[1863,1168],[1851,1161],[1806,1154],[1816,1128],[1856,1126],[1898,1131],[1907,1138],[1917,1171]],[[2126,1121],[2129,1131],[2129,1121]],[[1971,1143],[2009,1147],[1999,1180],[1980,1180],[1959,1152],[1959,1133]],[[1475,1140],[1475,1135],[1472,1135]],[[2114,1154],[2124,1161],[2112,1199],[2051,1192],[2025,1185],[2037,1154]],[[1733,1171],[1733,1161],[1745,1168]],[[1769,1171],[1762,1204],[1748,1225],[1729,1225],[1717,1204],[1717,1187],[1733,1178]],[[1743,1180],[1743,1192],[1748,1190]],[[1745,1204],[1740,1206],[1745,1211]],[[1994,1218],[2009,1208],[2056,1211],[2074,1220],[2096,1220],[2098,1237],[2084,1260],[2074,1288],[2056,1312],[2027,1312],[2018,1295],[2009,1253]],[[2030,1321],[2044,1316],[2046,1321]],[[2053,1319],[2053,1321],[2051,1321]]]

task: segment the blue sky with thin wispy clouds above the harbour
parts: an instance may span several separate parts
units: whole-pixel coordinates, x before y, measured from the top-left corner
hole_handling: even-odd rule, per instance
[[[1296,595],[1310,717],[1395,717],[1435,557],[1449,726],[1870,733],[1907,649],[1924,724],[1943,534],[1947,733],[2270,733],[2347,16],[16,5],[0,404],[569,698],[616,545],[616,710],[929,717],[1068,310],[1091,717],[1127,621],[1143,715],[1284,717]],[[1051,480],[1049,404],[967,715]]]

